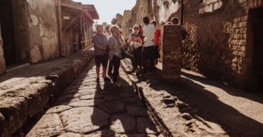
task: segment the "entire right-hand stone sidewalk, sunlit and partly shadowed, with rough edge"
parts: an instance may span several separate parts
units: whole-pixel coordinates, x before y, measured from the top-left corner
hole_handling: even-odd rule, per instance
[[[128,60],[121,65],[130,71]],[[165,136],[263,136],[262,97],[185,70],[177,85],[126,74]]]

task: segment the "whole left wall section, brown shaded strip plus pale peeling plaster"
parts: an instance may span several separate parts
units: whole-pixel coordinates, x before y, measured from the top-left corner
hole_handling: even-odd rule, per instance
[[[58,18],[53,0],[12,0],[17,61],[38,63],[58,58]]]

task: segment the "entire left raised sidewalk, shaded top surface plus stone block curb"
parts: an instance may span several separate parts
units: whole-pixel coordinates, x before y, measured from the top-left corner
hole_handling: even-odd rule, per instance
[[[92,56],[70,56],[8,72],[0,77],[0,136],[11,136],[58,98]]]

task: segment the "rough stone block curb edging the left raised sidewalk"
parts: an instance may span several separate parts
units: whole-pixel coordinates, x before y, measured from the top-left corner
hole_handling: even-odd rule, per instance
[[[42,81],[31,83],[13,96],[0,100],[0,137],[9,137],[30,118],[38,115],[81,74],[93,56],[76,59],[72,64],[53,68]]]

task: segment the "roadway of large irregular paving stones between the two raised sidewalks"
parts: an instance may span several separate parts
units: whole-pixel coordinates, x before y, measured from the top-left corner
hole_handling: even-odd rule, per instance
[[[94,61],[27,133],[32,136],[159,136],[161,132],[121,70],[123,86],[100,79]]]

